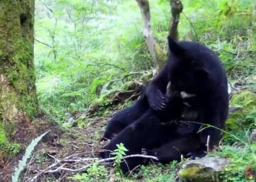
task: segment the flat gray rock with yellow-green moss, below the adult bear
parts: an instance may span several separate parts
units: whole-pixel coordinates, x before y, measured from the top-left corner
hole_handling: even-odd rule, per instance
[[[180,182],[219,182],[220,172],[230,164],[230,160],[221,157],[207,157],[188,160],[182,165]]]

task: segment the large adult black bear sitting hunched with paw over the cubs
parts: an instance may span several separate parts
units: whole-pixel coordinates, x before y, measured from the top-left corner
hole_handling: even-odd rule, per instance
[[[170,81],[173,92],[195,95],[190,103],[198,111],[198,122],[222,128],[228,115],[228,82],[218,56],[199,43],[176,43],[168,37],[170,53],[163,70],[150,83],[148,102],[154,110],[163,110],[168,99],[166,86]],[[210,149],[218,141],[220,131],[209,127],[200,133],[202,149],[208,135]]]

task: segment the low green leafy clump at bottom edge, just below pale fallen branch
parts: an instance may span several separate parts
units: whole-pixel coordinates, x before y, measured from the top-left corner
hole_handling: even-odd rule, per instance
[[[106,168],[104,166],[98,166],[93,164],[88,168],[86,173],[76,174],[70,179],[76,180],[78,182],[105,182],[106,178]]]

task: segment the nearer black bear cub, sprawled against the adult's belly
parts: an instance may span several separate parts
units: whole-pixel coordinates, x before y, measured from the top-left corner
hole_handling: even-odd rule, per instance
[[[166,105],[166,109],[173,111],[172,114],[166,111],[156,111],[149,108],[138,120],[118,133],[118,135],[103,148],[103,150],[106,151],[100,153],[100,157],[112,157],[110,151],[116,149],[116,144],[119,143],[123,143],[128,149],[126,155],[133,155],[141,154],[142,148],[149,150],[158,148],[168,143],[170,139],[180,137],[176,133],[180,123],[173,121],[180,117],[182,106],[182,98],[173,96]],[[121,169],[124,174],[126,174],[138,164],[143,164],[143,160],[144,159],[141,157],[126,159],[126,162],[121,163]]]

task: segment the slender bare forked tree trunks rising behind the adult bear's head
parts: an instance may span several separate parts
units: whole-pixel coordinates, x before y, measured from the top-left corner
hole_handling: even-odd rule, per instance
[[[156,70],[153,71],[153,76],[155,76],[166,62],[166,51],[162,50],[154,40],[148,0],[136,0],[136,2],[138,3],[142,15],[143,35],[146,40],[146,45],[156,65]],[[180,0],[170,0],[170,6],[171,19],[169,35],[175,40],[178,40],[178,23],[183,6]]]

